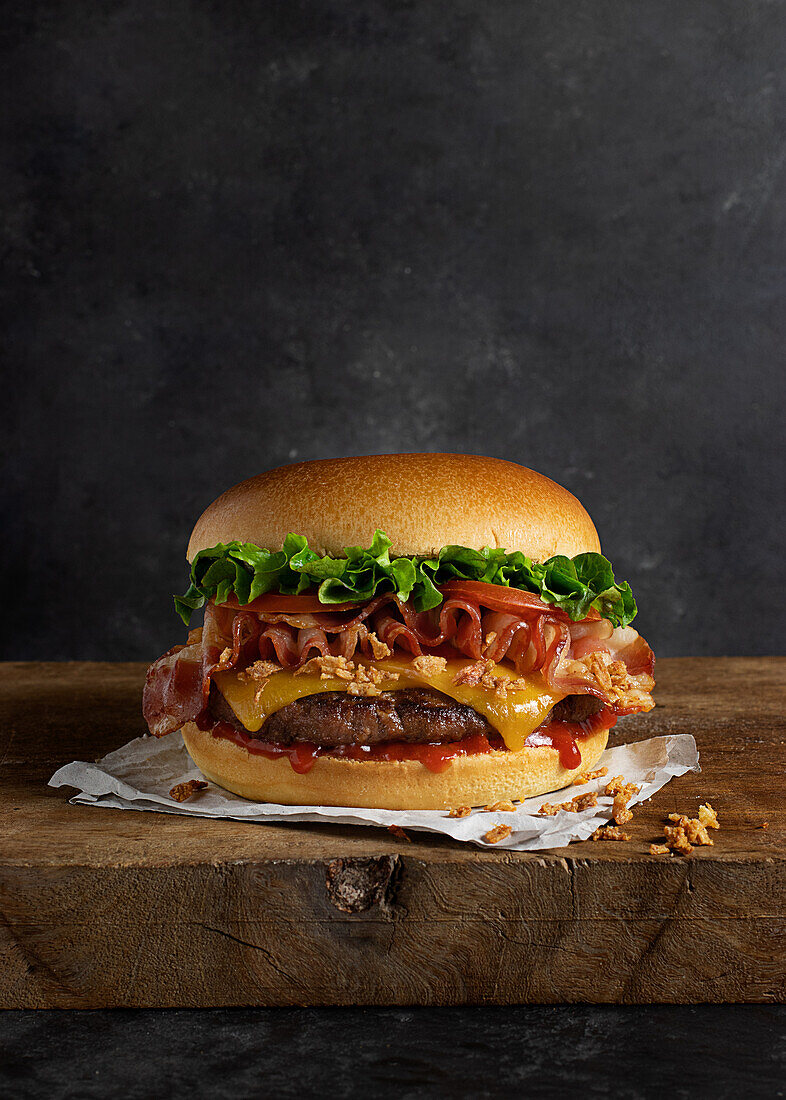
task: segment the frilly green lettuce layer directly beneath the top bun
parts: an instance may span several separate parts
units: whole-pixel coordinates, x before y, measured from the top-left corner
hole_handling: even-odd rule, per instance
[[[535,562],[518,550],[447,546],[435,558],[391,560],[390,547],[384,531],[375,532],[368,549],[346,547],[343,558],[321,557],[301,535],[288,535],[275,551],[252,542],[220,542],[193,559],[190,584],[175,597],[175,607],[188,625],[208,600],[221,604],[234,595],[244,605],[265,592],[291,595],[317,590],[326,606],[392,592],[422,612],[439,607],[440,586],[460,578],[535,593],[574,622],[593,608],[613,626],[627,626],[636,614],[630,585],[615,579],[611,563],[599,553],[557,554]]]

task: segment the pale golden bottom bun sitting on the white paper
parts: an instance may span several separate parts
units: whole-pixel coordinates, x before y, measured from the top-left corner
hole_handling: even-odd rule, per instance
[[[578,743],[578,768],[563,768],[547,746],[518,752],[491,751],[455,757],[445,771],[429,771],[419,760],[347,760],[322,756],[305,774],[286,757],[248,752],[192,723],[182,728],[188,754],[202,774],[253,802],[305,806],[365,806],[376,810],[452,810],[484,806],[499,799],[529,799],[567,787],[598,760],[608,729]]]

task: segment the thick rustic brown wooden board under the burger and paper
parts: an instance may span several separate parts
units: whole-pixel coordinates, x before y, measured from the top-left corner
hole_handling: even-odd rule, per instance
[[[693,733],[701,774],[630,844],[536,854],[68,805],[46,781],[143,732],[143,675],[0,666],[0,1005],[784,999],[786,659],[660,661],[618,730]],[[650,856],[704,801],[716,846]]]

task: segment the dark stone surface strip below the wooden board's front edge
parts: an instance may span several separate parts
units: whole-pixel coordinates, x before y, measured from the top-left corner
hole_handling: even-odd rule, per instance
[[[783,1097],[786,1009],[7,1012],[0,1096]]]

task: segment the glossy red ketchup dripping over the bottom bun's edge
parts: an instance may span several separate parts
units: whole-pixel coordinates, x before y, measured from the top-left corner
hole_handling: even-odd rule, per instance
[[[610,707],[604,707],[598,714],[584,722],[550,722],[539,726],[524,743],[527,747],[549,746],[560,754],[563,768],[578,768],[582,762],[579,740],[596,734],[600,729],[610,729],[617,722],[617,716]],[[505,741],[497,734],[473,734],[461,741],[443,745],[409,745],[407,741],[384,741],[381,745],[340,745],[325,749],[309,741],[295,741],[291,745],[279,745],[276,741],[263,741],[258,737],[235,729],[228,722],[207,724],[200,728],[209,728],[213,737],[223,737],[233,741],[240,748],[246,749],[252,756],[264,756],[269,760],[286,757],[294,771],[303,776],[311,771],[318,757],[337,757],[344,760],[419,760],[429,771],[446,771],[456,757],[477,756],[481,752],[507,751]]]

